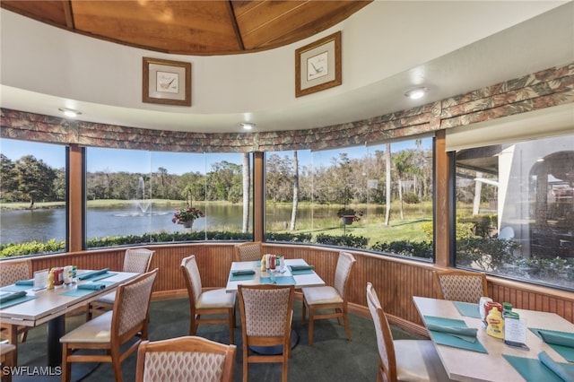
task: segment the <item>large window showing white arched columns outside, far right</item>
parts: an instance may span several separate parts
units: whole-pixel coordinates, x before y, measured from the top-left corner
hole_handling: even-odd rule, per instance
[[[456,157],[457,265],[574,288],[574,135]]]

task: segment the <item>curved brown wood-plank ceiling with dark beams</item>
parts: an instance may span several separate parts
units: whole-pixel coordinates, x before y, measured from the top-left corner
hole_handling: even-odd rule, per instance
[[[2,0],[39,22],[136,48],[228,55],[281,47],[344,21],[372,0]]]

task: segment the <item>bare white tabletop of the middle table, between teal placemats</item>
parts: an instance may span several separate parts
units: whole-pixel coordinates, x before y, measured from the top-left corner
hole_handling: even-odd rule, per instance
[[[305,260],[303,259],[286,259],[285,265],[308,265]],[[285,267],[284,273],[275,273],[275,277],[285,277],[285,276],[292,276],[295,280],[295,288],[303,288],[303,287],[314,287],[314,286],[323,286],[325,282],[323,279],[319,277],[319,275],[315,272],[309,274],[296,274],[293,275],[289,272],[289,268]],[[238,271],[238,270],[253,270],[255,271],[254,277],[251,280],[242,280],[242,281],[230,281],[231,272]],[[227,278],[227,287],[225,288],[226,291],[237,291],[239,284],[244,285],[258,285],[261,283],[261,277],[270,277],[271,274],[267,272],[261,272],[261,266],[257,266],[257,261],[235,261],[231,263],[230,274]]]

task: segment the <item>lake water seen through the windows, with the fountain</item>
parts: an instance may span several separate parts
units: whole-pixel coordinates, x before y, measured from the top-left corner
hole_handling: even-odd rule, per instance
[[[338,207],[298,210],[298,220],[335,216]],[[142,235],[150,232],[187,230],[171,222],[174,208],[150,207],[142,213],[136,207],[89,208],[87,210],[87,239],[110,236]],[[241,205],[208,205],[206,217],[194,221],[193,230],[241,230]],[[291,221],[291,206],[267,206],[267,223]],[[40,242],[65,239],[65,209],[4,210],[0,213],[0,244],[22,243],[36,239]],[[251,220],[252,221],[252,220]]]

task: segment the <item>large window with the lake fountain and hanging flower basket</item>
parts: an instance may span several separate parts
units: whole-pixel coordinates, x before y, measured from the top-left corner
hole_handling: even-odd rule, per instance
[[[251,239],[252,228],[242,230],[242,160],[239,153],[87,149],[88,247]]]

